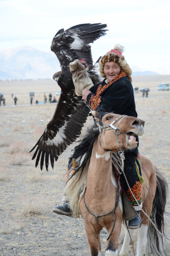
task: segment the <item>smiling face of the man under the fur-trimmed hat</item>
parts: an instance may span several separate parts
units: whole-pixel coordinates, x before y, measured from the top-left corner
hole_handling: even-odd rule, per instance
[[[107,78],[107,82],[113,80],[113,78],[120,72],[121,68],[116,62],[106,62],[104,66],[104,73]]]

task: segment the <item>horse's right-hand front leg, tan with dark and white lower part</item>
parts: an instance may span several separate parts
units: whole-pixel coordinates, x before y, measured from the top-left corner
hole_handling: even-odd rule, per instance
[[[109,234],[112,230],[112,227],[113,227],[113,222],[111,222],[111,225],[108,228],[106,227]],[[122,220],[116,219],[113,233],[111,234],[107,243],[105,256],[117,256],[117,243],[118,243],[118,238],[120,236],[121,227],[122,227]]]

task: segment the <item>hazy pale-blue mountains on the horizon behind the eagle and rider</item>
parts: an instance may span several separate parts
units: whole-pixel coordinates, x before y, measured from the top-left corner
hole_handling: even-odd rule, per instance
[[[56,55],[33,47],[23,46],[0,50],[0,80],[49,79],[60,71]],[[133,75],[158,75],[152,71],[142,72],[132,67]]]

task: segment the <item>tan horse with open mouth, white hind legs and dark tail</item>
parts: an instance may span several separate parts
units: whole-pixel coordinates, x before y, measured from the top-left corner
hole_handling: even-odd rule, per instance
[[[101,120],[99,116],[96,114],[97,125],[69,159],[69,162],[76,159],[76,165],[70,163],[71,176],[65,193],[72,216],[77,218],[81,215],[84,219],[91,255],[101,255],[102,228],[109,233],[105,256],[117,255],[123,222],[126,234],[119,255],[126,256],[129,255],[133,229],[128,229],[124,221],[122,198],[119,197],[119,188],[112,172],[112,153],[123,155],[125,150],[136,147],[134,135],[143,134],[144,121],[114,113],[105,113]],[[151,251],[154,251],[154,255],[164,255],[163,215],[167,183],[149,159],[144,156],[140,156],[140,159],[145,183],[142,186],[141,227],[138,228],[136,255],[151,255]]]

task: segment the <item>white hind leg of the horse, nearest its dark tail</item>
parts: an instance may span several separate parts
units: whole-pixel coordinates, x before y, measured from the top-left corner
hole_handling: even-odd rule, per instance
[[[136,245],[136,256],[143,256],[147,248],[147,224],[141,224],[138,229],[137,245]]]

